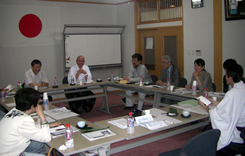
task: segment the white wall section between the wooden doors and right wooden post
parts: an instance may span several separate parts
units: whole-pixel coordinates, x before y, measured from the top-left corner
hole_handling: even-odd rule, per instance
[[[213,46],[213,1],[204,1],[204,7],[191,8],[191,1],[183,3],[184,27],[184,77],[188,83],[194,72],[194,61],[202,58],[205,69],[213,79],[214,46]],[[201,50],[201,56],[192,54],[193,50]]]

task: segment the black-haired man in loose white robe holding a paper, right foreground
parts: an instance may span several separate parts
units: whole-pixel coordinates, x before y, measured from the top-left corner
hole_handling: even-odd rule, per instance
[[[243,139],[240,137],[240,128],[245,127],[245,84],[242,81],[243,68],[238,65],[230,65],[226,69],[226,81],[232,86],[225,97],[216,102],[212,99],[213,109],[204,105],[200,100],[198,103],[210,114],[212,128],[219,129],[221,136],[218,141],[217,150],[222,152],[230,143],[242,144]]]

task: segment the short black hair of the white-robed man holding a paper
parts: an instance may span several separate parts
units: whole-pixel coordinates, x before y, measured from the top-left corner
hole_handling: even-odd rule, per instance
[[[243,79],[243,68],[241,65],[232,64],[229,65],[226,70],[227,76],[231,76],[234,83],[237,83]]]

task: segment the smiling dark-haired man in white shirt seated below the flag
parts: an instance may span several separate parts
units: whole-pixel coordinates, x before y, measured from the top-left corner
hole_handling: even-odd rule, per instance
[[[31,62],[31,69],[25,72],[25,87],[47,87],[49,85],[47,76],[41,67],[40,60],[35,59]]]

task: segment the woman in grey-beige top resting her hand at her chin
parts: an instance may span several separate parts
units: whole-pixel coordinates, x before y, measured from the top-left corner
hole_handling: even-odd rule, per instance
[[[193,81],[197,81],[197,89],[203,91],[207,88],[208,91],[213,91],[212,88],[212,78],[209,72],[205,70],[205,61],[201,58],[196,59],[194,61],[194,69],[195,71],[192,74],[191,81],[189,85],[186,85],[186,89],[191,89]]]

